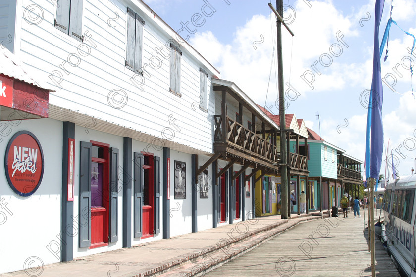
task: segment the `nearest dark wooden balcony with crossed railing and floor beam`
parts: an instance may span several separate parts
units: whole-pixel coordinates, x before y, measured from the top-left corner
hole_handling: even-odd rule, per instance
[[[277,170],[277,147],[238,122],[214,115],[214,152],[222,152]],[[225,129],[223,124],[225,124]]]

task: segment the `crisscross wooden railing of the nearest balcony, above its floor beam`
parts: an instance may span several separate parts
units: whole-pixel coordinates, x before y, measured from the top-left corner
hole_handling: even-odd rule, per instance
[[[254,132],[243,127],[243,125],[227,117],[226,121],[226,133],[222,131],[222,116],[214,115],[215,122],[215,143],[228,143],[229,146],[241,150],[243,152],[249,152],[255,154],[263,159],[269,160],[269,162],[277,163],[279,153],[277,147],[270,144],[266,139],[260,138]],[[225,135],[225,139],[224,139]]]

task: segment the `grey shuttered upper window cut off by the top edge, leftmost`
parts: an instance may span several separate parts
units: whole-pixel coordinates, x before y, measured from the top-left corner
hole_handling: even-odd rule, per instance
[[[82,42],[82,1],[83,0],[57,0],[56,29]]]

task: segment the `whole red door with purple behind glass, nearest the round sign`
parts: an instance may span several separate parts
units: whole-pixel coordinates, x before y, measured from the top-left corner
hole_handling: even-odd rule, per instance
[[[91,161],[91,248],[108,245],[109,145],[90,141]]]

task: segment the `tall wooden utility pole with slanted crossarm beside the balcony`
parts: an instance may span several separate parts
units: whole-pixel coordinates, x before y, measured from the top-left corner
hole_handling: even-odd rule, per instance
[[[281,218],[288,218],[289,205],[289,193],[290,186],[287,176],[287,157],[286,157],[286,122],[285,122],[285,97],[284,97],[284,82],[283,82],[283,55],[282,55],[282,23],[294,36],[293,32],[289,29],[283,20],[283,0],[276,0],[276,9],[273,8],[272,4],[268,4],[271,10],[277,16],[277,71],[279,78],[279,116],[280,116],[280,184],[281,184]]]

